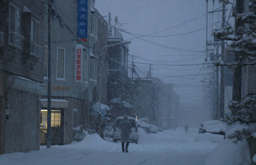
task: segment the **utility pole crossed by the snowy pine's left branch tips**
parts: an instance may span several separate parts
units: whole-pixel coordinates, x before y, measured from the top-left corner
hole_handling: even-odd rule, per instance
[[[226,14],[225,14],[225,8],[226,4],[222,4],[222,22],[221,22],[221,28],[225,28],[225,22],[226,22]],[[222,61],[225,60],[225,41],[221,40],[221,59]],[[220,75],[220,111],[219,111],[219,118],[224,117],[224,89],[225,89],[225,73],[224,73],[224,66],[221,66],[221,75]]]

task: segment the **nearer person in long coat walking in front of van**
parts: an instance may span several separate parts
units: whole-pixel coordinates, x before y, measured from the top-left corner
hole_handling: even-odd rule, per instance
[[[125,145],[125,152],[128,152],[128,146],[129,146],[129,139],[131,134],[132,125],[128,120],[128,117],[124,115],[123,120],[119,124],[120,136],[122,141],[122,152],[124,152],[124,143]]]

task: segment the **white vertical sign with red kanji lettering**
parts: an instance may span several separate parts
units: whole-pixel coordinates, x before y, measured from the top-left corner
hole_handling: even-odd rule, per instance
[[[76,46],[76,82],[83,81],[83,46]]]

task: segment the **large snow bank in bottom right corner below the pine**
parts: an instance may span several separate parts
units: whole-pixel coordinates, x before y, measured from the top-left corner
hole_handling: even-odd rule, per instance
[[[216,146],[207,157],[205,165],[249,165],[250,150],[247,141],[232,143],[231,139],[225,139]]]

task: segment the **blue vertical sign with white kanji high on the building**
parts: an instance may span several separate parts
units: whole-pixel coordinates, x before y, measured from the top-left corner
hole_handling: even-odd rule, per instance
[[[87,42],[88,0],[77,1],[77,36]]]

